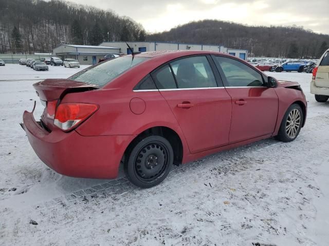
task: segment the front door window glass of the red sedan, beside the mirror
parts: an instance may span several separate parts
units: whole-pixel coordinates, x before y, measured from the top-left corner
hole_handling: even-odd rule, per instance
[[[218,69],[222,68],[229,87],[264,86],[260,73],[239,60],[214,56]]]

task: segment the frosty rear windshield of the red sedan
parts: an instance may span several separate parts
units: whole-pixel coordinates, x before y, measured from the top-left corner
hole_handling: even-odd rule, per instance
[[[126,70],[136,66],[146,59],[149,58],[135,57],[132,59],[131,56],[118,57],[116,59],[100,63],[96,66],[86,68],[68,79],[97,86],[104,86]]]

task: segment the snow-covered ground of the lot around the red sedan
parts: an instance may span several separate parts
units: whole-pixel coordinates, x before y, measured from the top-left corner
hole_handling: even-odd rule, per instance
[[[306,94],[307,121],[295,141],[217,153],[141,190],[123,174],[62,176],[30,147],[19,122],[33,100],[41,115],[32,84],[78,70],[0,67],[0,245],[329,244],[329,103],[309,94],[311,74],[268,72],[298,81]]]

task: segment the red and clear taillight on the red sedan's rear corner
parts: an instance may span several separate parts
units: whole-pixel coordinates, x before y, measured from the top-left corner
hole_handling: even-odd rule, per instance
[[[60,104],[56,109],[54,125],[63,131],[69,131],[81,124],[96,112],[95,104]]]

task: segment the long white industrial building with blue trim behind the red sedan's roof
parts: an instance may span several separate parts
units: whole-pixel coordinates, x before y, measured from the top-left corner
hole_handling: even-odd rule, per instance
[[[202,45],[202,44],[185,44],[185,43],[166,43],[166,42],[127,42],[133,51],[157,51],[157,50],[210,50],[222,52],[240,57],[247,60],[248,50],[229,49],[221,45]],[[131,51],[125,42],[103,42],[100,46],[118,47],[121,53],[130,54]]]

